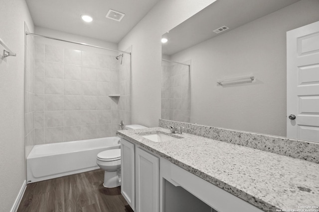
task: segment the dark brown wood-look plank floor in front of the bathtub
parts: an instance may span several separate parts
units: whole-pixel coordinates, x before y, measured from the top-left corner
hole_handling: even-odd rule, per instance
[[[101,169],[27,184],[17,212],[133,212]]]

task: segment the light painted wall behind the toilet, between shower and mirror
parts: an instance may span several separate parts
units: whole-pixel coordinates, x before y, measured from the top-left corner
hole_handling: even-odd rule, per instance
[[[161,35],[214,0],[160,0],[119,43],[132,45],[132,123],[159,125],[161,108]]]

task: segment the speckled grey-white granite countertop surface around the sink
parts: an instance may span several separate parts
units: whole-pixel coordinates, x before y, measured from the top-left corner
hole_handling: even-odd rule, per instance
[[[154,131],[170,133],[157,127],[118,134],[263,211],[319,206],[319,164],[185,133],[161,142],[141,136]]]

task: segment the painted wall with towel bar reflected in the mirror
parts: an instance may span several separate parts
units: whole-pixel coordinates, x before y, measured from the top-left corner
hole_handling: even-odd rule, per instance
[[[318,0],[301,0],[172,55],[192,61],[190,122],[286,136],[286,32],[318,21],[318,11]],[[248,74],[253,83],[216,83]]]

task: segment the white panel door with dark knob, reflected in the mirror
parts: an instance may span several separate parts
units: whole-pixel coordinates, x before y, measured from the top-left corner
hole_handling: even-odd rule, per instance
[[[319,142],[319,21],[287,32],[287,137]]]

